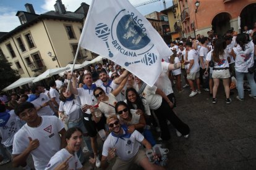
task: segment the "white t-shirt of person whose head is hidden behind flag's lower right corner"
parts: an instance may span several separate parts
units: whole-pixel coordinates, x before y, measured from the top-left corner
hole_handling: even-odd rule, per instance
[[[161,89],[161,91],[163,91],[165,95],[173,93],[173,87],[168,77],[168,66],[168,62],[161,62],[162,71],[155,83],[155,86],[158,87],[158,89]]]

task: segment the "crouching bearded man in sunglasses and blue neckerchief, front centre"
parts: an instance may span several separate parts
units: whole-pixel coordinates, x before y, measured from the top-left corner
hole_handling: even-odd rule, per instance
[[[112,167],[113,170],[126,170],[134,163],[139,164],[143,169],[147,170],[164,169],[156,164],[151,164],[148,161],[145,151],[139,148],[141,143],[147,150],[152,149],[150,143],[140,132],[135,130],[129,134],[126,126],[119,124],[119,119],[116,115],[109,116],[106,123],[111,134],[109,134],[103,145],[101,168],[108,168],[109,161],[117,156],[116,162]],[[154,157],[156,158],[156,156]]]

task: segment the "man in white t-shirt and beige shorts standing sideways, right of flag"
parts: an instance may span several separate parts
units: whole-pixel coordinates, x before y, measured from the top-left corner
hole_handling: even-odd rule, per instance
[[[186,50],[187,50],[187,60],[190,62],[187,66],[187,80],[189,81],[189,86],[192,89],[192,92],[189,94],[189,97],[193,97],[197,93],[200,94],[200,79],[199,79],[199,63],[198,63],[198,54],[195,49],[192,48],[192,42],[186,42]],[[197,83],[198,90],[194,87],[194,81]]]

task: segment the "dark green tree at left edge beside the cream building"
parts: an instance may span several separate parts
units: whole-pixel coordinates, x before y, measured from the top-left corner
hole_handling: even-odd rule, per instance
[[[11,68],[12,63],[0,57],[0,91],[20,78],[19,71]]]

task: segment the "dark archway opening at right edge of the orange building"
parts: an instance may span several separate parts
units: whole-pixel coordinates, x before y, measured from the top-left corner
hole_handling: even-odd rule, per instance
[[[249,4],[248,6],[242,9],[240,17],[241,17],[241,32],[244,31],[244,26],[248,26],[248,30],[252,30],[254,28],[254,23],[256,22],[255,15],[256,3]]]

